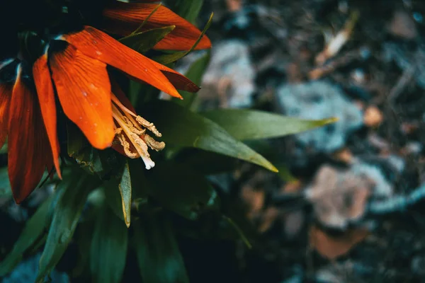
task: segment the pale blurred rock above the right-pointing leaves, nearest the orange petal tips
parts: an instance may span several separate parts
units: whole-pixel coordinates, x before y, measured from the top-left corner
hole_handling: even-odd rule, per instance
[[[215,88],[215,93],[222,96],[221,106],[246,108],[252,105],[255,76],[249,47],[240,40],[227,40],[212,50],[203,87]]]

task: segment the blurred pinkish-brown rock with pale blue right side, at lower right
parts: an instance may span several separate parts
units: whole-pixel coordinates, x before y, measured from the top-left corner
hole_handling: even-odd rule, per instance
[[[392,193],[393,187],[380,168],[361,161],[344,171],[322,166],[306,189],[317,219],[334,229],[346,229],[361,220],[370,197],[385,198]]]

